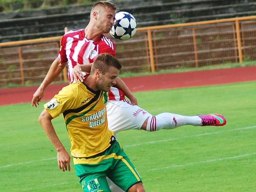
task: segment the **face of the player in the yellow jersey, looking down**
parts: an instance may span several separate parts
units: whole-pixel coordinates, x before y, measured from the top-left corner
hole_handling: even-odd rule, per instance
[[[119,70],[115,67],[109,67],[108,72],[100,74],[100,77],[96,83],[97,89],[100,91],[108,92],[109,89],[116,84],[116,77],[119,74]]]

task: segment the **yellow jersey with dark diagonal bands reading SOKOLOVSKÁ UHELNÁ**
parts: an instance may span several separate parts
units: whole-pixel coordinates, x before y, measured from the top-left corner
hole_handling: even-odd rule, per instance
[[[63,114],[71,142],[71,155],[90,157],[110,146],[113,132],[108,130],[108,94],[93,91],[80,82],[63,87],[44,108],[52,117]]]

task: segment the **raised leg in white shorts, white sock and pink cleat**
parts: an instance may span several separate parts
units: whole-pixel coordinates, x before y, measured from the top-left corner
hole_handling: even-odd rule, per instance
[[[173,113],[160,113],[153,116],[139,106],[132,105],[127,100],[108,101],[107,117],[109,130],[115,133],[129,129],[142,129],[152,132],[161,129],[174,129],[183,125],[223,126],[226,124],[225,118],[218,114],[183,116]]]

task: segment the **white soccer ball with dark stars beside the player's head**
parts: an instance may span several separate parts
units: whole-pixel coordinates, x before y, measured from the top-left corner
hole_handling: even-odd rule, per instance
[[[119,40],[127,40],[134,36],[136,30],[137,22],[132,14],[120,11],[116,13],[110,35]]]

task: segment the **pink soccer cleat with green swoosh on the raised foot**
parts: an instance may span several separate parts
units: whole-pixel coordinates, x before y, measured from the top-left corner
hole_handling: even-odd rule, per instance
[[[223,126],[227,123],[226,119],[219,114],[198,115],[201,118],[201,126]]]

